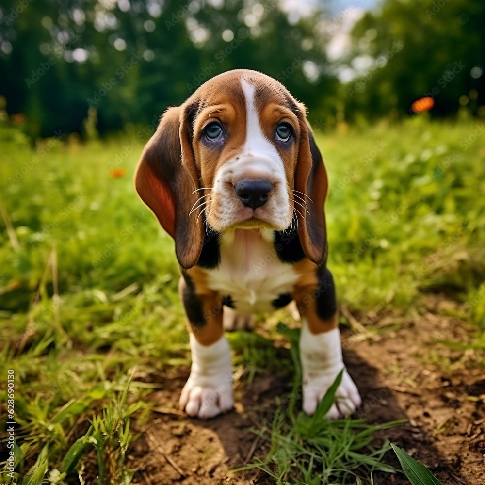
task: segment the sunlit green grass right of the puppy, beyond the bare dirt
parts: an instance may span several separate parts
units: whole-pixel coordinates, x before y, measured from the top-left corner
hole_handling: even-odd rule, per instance
[[[475,123],[450,127],[422,116],[366,133],[320,143],[330,173],[329,266],[340,297],[379,311],[408,306],[420,291],[445,291],[465,303],[468,318],[471,309],[478,315],[485,201],[474,194],[485,190],[485,134]]]

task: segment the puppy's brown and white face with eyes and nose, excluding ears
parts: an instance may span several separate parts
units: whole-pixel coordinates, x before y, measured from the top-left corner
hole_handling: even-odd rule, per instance
[[[237,81],[208,82],[197,93],[192,146],[205,187],[199,192],[202,212],[218,232],[284,230],[294,209],[305,212],[302,195],[293,195],[301,136],[295,112],[301,107],[276,81]]]

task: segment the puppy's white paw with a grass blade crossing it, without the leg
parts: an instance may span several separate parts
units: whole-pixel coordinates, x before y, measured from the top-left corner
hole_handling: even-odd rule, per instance
[[[334,383],[339,372],[325,375],[322,374],[314,379],[309,379],[303,384],[303,410],[312,415],[318,404]],[[359,391],[347,370],[343,371],[342,381],[336,393],[336,401],[327,413],[327,417],[333,420],[350,416],[361,404]]]

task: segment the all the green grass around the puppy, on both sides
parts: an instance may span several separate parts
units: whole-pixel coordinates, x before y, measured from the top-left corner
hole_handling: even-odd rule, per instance
[[[482,335],[473,345],[485,346],[485,149],[476,125],[419,116],[318,136],[332,187],[329,267],[352,311],[415,312],[422,292],[445,291],[464,308],[456,316]],[[173,242],[132,188],[144,140],[130,133],[82,145],[65,137],[32,150],[19,129],[2,125],[0,143],[0,398],[6,403],[13,369],[19,424],[15,480],[4,469],[2,483],[63,484],[77,474],[129,483],[130,422],[150,419],[147,396],[165,385],[153,376],[190,359]],[[280,321],[268,319],[272,338],[285,338]],[[258,334],[230,340],[246,380],[293,372]],[[323,444],[308,434],[308,420],[282,405],[261,427],[279,441],[259,465],[282,480],[320,480],[312,457]],[[377,427],[357,421],[319,424],[345,430],[345,447],[360,453],[337,467],[348,479],[356,464],[386,466],[372,442]],[[284,445],[290,435],[297,448]],[[296,457],[304,469],[291,467]]]

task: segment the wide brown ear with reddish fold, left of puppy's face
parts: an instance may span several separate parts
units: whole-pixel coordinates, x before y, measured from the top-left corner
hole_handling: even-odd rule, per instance
[[[178,262],[185,269],[199,259],[204,237],[200,209],[189,217],[200,196],[194,193],[199,176],[191,141],[196,109],[196,105],[182,105],[163,114],[134,175],[136,192],[174,238]]]

